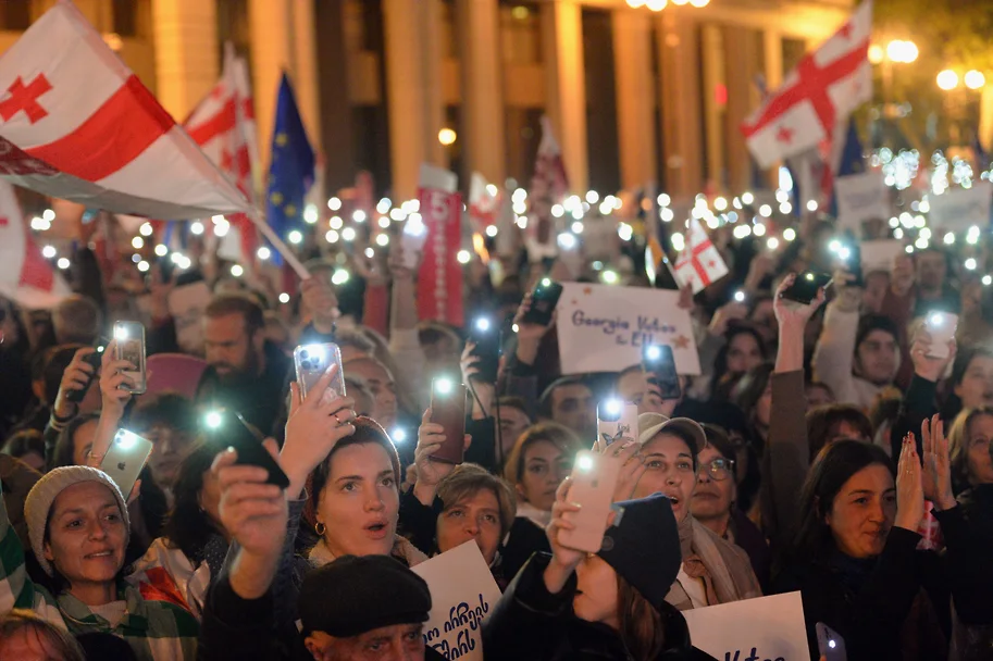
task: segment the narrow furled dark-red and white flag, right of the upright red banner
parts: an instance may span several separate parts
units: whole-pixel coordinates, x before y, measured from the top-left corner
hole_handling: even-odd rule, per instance
[[[566,178],[562,150],[551,130],[551,121],[543,116],[542,142],[538,145],[534,176],[531,178],[531,190],[527,192],[531,212],[527,215],[525,245],[532,262],[558,253],[551,208],[561,204],[568,192],[569,182]]]

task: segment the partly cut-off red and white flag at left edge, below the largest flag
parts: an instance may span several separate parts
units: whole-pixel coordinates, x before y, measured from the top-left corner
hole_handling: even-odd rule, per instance
[[[70,294],[28,232],[14,187],[0,179],[0,296],[39,309],[53,308]]]

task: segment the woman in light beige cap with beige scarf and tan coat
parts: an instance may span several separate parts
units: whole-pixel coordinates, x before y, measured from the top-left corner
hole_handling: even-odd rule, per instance
[[[634,496],[665,494],[679,524],[682,563],[666,601],[682,611],[761,597],[747,553],[690,512],[698,454],[707,445],[704,428],[688,417],[643,413],[638,415],[638,442],[645,473]]]

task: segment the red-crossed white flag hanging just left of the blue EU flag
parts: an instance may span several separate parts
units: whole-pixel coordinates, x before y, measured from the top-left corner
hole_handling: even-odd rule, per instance
[[[248,63],[235,54],[231,42],[224,45],[224,71],[221,79],[184,123],[189,137],[250,202],[256,199],[259,182],[259,142],[255,108],[248,82]],[[222,257],[250,264],[259,247],[258,230],[244,213],[227,216],[235,253]],[[212,226],[212,225],[211,225]],[[227,251],[231,252],[231,251]]]

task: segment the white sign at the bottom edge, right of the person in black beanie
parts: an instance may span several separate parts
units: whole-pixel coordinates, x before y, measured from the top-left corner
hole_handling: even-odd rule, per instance
[[[683,611],[693,646],[721,661],[810,661],[799,593]]]

